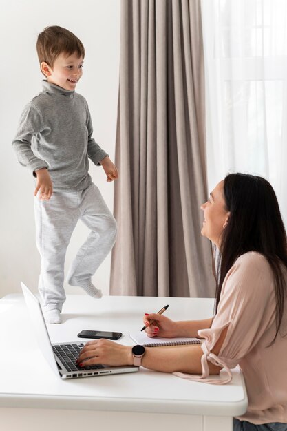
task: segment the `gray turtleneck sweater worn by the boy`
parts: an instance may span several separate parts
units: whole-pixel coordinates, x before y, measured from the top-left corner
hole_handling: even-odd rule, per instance
[[[12,147],[33,173],[48,169],[55,191],[81,191],[92,181],[88,158],[99,165],[108,156],[92,132],[85,98],[43,81],[42,92],[23,110]]]

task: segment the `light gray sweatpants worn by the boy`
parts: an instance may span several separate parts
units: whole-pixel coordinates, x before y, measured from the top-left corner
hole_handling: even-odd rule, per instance
[[[36,245],[41,255],[39,292],[47,310],[65,302],[64,264],[78,220],[91,230],[72,262],[67,282],[87,286],[116,240],[116,220],[94,184],[82,191],[54,191],[48,201],[34,199]]]

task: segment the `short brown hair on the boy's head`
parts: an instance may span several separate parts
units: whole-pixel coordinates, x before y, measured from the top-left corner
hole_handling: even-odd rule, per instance
[[[58,25],[44,28],[38,36],[36,49],[40,64],[45,61],[50,67],[53,67],[56,58],[63,53],[69,56],[76,52],[79,57],[85,56],[85,48],[80,39]]]

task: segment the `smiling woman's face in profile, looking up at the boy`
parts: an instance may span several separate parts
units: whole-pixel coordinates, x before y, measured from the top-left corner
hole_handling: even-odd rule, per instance
[[[209,238],[217,247],[220,246],[220,238],[230,214],[225,207],[223,185],[222,180],[211,191],[209,200],[200,207],[204,217],[201,234]]]

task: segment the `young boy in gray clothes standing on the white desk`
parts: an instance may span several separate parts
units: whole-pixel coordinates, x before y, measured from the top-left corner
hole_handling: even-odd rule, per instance
[[[101,297],[91,277],[116,240],[116,220],[89,176],[89,161],[102,165],[107,181],[118,178],[109,156],[92,138],[85,98],[75,92],[85,49],[69,30],[47,27],[36,44],[43,90],[25,106],[12,147],[36,177],[36,244],[41,254],[39,291],[47,323],[61,323],[65,302],[65,253],[77,221],[91,230],[70,268],[67,282]]]

